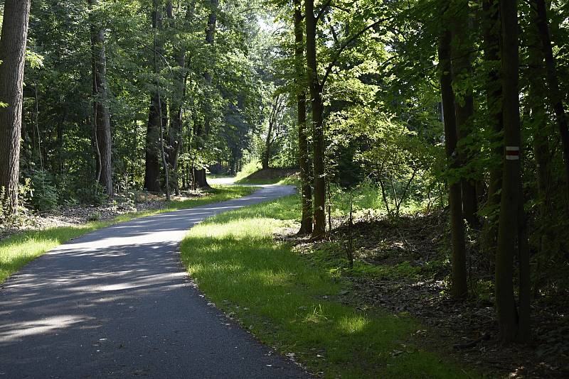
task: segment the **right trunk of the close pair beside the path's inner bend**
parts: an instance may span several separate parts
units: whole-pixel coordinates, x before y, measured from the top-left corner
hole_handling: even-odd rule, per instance
[[[326,236],[326,180],[324,177],[324,104],[318,79],[316,23],[314,0],[304,1],[307,28],[307,76],[312,101],[312,148],[314,162],[314,229],[312,238]]]

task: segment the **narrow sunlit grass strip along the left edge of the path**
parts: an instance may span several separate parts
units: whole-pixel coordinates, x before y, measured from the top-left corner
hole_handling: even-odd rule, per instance
[[[254,190],[255,188],[252,187],[216,187],[212,189],[211,194],[208,194],[206,197],[170,202],[168,207],[163,209],[122,214],[110,221],[94,221],[78,226],[63,226],[42,231],[26,231],[16,236],[4,238],[0,241],[0,283],[4,282],[6,278],[15,273],[23,265],[46,253],[46,251],[50,251],[61,243],[90,231],[139,217],[171,212],[177,209],[198,207],[212,202],[223,202],[224,200],[245,196]]]

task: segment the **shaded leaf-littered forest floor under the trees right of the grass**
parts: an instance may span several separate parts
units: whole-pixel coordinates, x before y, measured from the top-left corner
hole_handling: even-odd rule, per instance
[[[283,229],[277,239],[292,243],[294,251],[312,264],[349,282],[349,290],[337,297],[339,302],[362,311],[388,309],[418,319],[424,328],[415,335],[425,346],[438,346],[445,355],[491,376],[568,378],[568,294],[533,301],[531,346],[501,346],[491,266],[475,258],[476,246],[469,246],[471,297],[456,301],[448,296],[445,217],[444,212],[400,219],[367,216],[356,220],[351,231],[344,219],[334,219],[328,241],[300,238],[297,228]],[[350,233],[353,268],[346,258]]]

